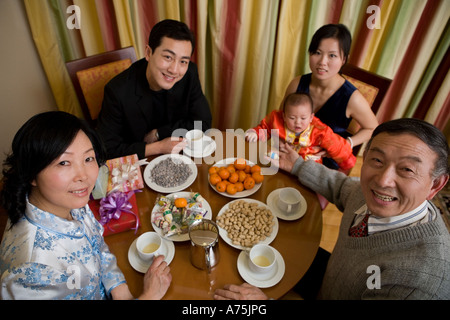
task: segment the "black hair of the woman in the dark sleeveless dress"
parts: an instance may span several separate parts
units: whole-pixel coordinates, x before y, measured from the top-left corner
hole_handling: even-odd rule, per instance
[[[343,24],[327,24],[320,27],[311,39],[311,43],[308,48],[309,54],[313,54],[317,51],[317,48],[319,48],[320,42],[323,39],[330,38],[336,39],[339,42],[339,49],[345,58],[345,63],[347,63],[350,48],[352,46],[352,35]]]

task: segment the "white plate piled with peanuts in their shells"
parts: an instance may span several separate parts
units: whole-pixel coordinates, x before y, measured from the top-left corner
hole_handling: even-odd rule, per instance
[[[278,233],[278,219],[269,206],[254,199],[230,201],[216,217],[220,237],[230,246],[245,250],[270,244]]]

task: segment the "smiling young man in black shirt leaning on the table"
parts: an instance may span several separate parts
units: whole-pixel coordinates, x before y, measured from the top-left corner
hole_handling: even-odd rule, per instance
[[[190,61],[194,46],[186,24],[160,21],[150,32],[145,58],[105,86],[97,129],[108,158],[178,153],[186,142],[171,138],[174,130],[194,129],[194,122],[203,131],[211,127],[197,66]]]

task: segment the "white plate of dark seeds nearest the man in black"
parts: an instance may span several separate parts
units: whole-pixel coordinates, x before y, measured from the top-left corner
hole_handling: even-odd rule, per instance
[[[149,188],[172,193],[189,187],[197,177],[197,166],[180,154],[165,154],[153,159],[144,170],[144,181]]]

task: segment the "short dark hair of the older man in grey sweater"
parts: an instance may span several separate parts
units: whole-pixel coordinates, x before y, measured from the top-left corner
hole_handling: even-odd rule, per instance
[[[366,150],[370,148],[372,140],[382,132],[390,135],[411,134],[426,143],[436,155],[436,163],[432,173],[433,178],[448,175],[450,168],[448,164],[449,146],[444,134],[432,124],[414,118],[401,118],[380,124],[372,133],[367,143]]]

